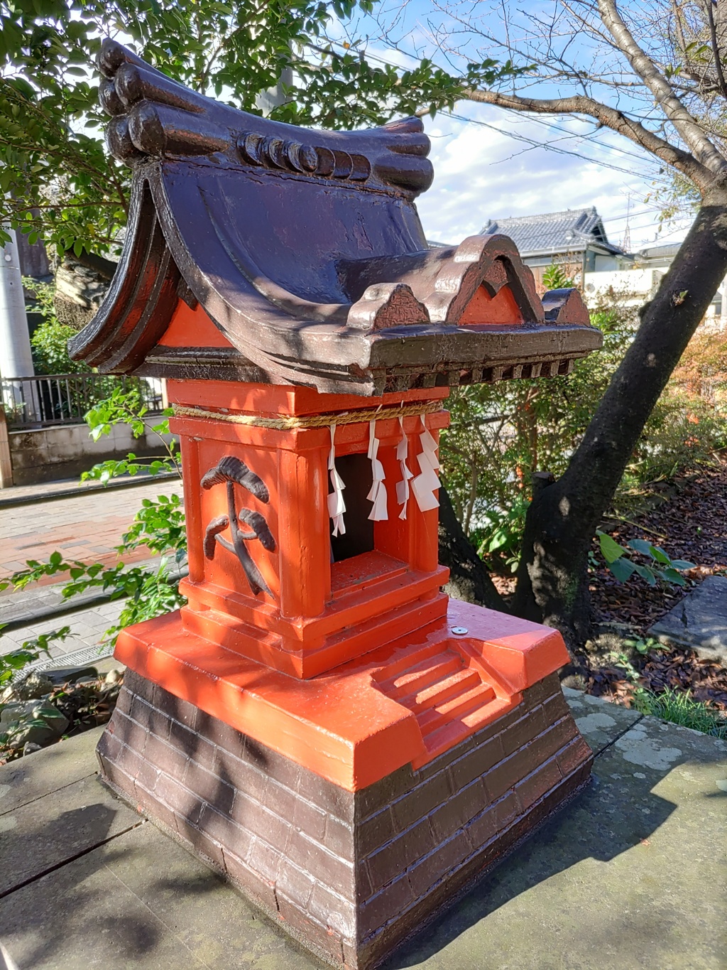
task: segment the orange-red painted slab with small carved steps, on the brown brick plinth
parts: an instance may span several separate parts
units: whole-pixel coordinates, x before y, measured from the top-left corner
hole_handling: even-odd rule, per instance
[[[115,656],[350,792],[449,751],[568,662],[555,630],[458,600],[444,619],[311,680],[206,640],[178,613],[123,630]]]

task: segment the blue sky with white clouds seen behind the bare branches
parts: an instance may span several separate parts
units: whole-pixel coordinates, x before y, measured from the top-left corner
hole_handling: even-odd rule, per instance
[[[458,70],[461,58],[448,64],[432,41],[437,27],[447,19],[437,10],[437,4],[443,2],[448,0],[409,0],[404,5],[400,0],[382,0],[376,10],[384,21],[387,16],[391,19],[391,31],[382,32],[380,24],[363,17],[348,32],[341,28],[340,38],[344,39],[344,33],[349,41],[368,37],[370,40],[364,43],[368,55],[399,66],[416,63],[406,56],[405,52],[411,52],[431,56],[443,67]],[[623,0],[626,6],[629,2]],[[638,6],[639,0],[634,2]],[[468,5],[471,11],[488,6],[483,0]],[[555,9],[555,3],[521,0],[515,5],[504,0],[500,9],[507,11],[508,17],[522,17],[523,12],[547,14]],[[496,16],[488,16],[483,22],[489,27]],[[515,20],[512,22],[515,24]],[[526,32],[526,18],[521,19],[522,24]],[[392,40],[398,43],[398,49],[394,49]],[[592,45],[576,38],[568,57],[594,63],[594,51]],[[492,56],[502,60],[501,52],[483,47],[481,38],[479,46],[475,41],[468,42],[461,53],[465,59]],[[612,51],[608,69],[617,72],[613,58]],[[548,85],[530,93],[548,97],[566,92]],[[620,98],[622,107],[627,108],[622,94]],[[438,113],[425,121],[435,178],[417,206],[427,238],[454,243],[479,232],[489,218],[595,206],[611,242],[624,242],[628,223],[632,251],[683,239],[689,220],[682,219],[659,232],[659,206],[653,199],[647,201],[654,183],[663,184],[656,161],[608,129],[594,136],[592,121],[572,116],[533,117],[471,102],[458,104],[455,114]]]

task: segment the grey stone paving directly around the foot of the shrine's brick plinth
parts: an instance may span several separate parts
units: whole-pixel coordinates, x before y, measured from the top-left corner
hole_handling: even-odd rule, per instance
[[[566,695],[597,754],[594,784],[386,970],[727,967],[727,744]],[[9,965],[319,966],[98,784],[98,733],[0,768]]]

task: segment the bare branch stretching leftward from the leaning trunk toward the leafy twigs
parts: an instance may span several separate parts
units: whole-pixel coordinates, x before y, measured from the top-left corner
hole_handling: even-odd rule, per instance
[[[714,173],[698,162],[694,155],[684,151],[658,135],[649,131],[641,122],[628,117],[616,108],[601,104],[593,98],[583,94],[574,94],[567,98],[527,98],[518,94],[503,94],[501,91],[481,91],[479,89],[466,90],[463,97],[468,101],[480,104],[497,105],[499,108],[510,108],[516,112],[534,114],[586,114],[619,135],[623,135],[634,145],[646,148],[667,165],[672,165],[683,175],[698,185],[703,191],[708,190],[714,179]],[[719,156],[721,158],[721,156]],[[725,166],[727,169],[727,165]]]

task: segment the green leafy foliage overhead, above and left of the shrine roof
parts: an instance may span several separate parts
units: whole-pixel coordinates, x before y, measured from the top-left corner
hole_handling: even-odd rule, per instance
[[[452,107],[473,85],[514,73],[493,60],[461,77],[423,60],[410,71],[372,65],[356,44],[332,47],[332,19],[372,0],[0,0],[0,221],[61,249],[108,251],[125,224],[128,169],[105,151],[92,60],[119,36],[203,94],[271,116],[334,128],[380,124],[421,106]],[[0,238],[0,242],[4,242]]]

